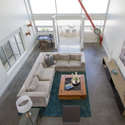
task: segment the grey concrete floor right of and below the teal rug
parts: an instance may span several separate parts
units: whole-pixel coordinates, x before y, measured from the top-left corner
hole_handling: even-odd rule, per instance
[[[81,118],[80,125],[125,125],[125,118],[119,112],[102,66],[102,58],[106,55],[104,49],[95,44],[86,44],[84,52],[92,117]],[[62,118],[43,117],[40,123],[63,125]]]

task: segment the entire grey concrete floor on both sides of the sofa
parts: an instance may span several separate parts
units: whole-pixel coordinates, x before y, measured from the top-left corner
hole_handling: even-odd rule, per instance
[[[120,115],[102,66],[102,58],[106,55],[104,49],[91,44],[85,46],[84,52],[92,117],[81,118],[80,125],[125,125],[125,118]],[[36,48],[1,98],[0,125],[18,125],[16,95],[38,54],[39,50]],[[57,117],[42,117],[39,123],[40,125],[63,125],[62,118]]]

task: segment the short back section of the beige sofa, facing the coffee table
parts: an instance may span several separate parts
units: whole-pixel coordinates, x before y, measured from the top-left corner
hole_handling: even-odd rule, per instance
[[[54,53],[56,60],[56,71],[84,71],[85,57],[84,53]]]

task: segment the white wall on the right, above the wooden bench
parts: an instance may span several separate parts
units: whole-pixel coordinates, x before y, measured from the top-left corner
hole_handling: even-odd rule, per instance
[[[111,0],[104,31],[104,48],[116,60],[125,76],[125,67],[119,59],[121,46],[125,40],[125,0]]]

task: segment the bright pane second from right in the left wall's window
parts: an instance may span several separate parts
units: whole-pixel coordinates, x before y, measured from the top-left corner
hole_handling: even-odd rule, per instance
[[[20,57],[20,53],[19,53],[18,45],[16,44],[14,37],[11,37],[9,39],[9,41],[10,41],[10,45],[13,49],[13,53],[14,53],[15,57],[16,57],[16,59],[18,59]]]

